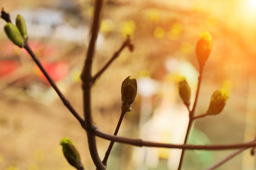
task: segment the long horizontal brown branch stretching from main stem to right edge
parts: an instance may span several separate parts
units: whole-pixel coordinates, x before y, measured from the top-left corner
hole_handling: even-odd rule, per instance
[[[179,148],[179,149],[186,149],[186,150],[232,150],[237,148],[256,146],[256,142],[233,143],[233,144],[226,144],[226,145],[187,145],[187,144],[174,145],[171,143],[149,142],[149,141],[142,141],[142,139],[118,137],[116,135],[104,133],[98,129],[95,129],[93,131],[93,134],[96,135],[97,137],[107,139],[109,141],[126,143],[129,145],[139,146],[139,147],[146,146],[146,147],[162,147],[162,148]]]

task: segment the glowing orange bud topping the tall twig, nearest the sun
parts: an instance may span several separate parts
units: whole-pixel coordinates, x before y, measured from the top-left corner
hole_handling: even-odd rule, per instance
[[[201,69],[209,58],[210,51],[212,50],[212,36],[209,32],[200,34],[199,40],[196,43],[196,57]]]

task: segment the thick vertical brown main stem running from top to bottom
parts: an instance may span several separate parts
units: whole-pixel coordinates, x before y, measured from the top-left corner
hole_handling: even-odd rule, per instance
[[[102,164],[100,156],[98,155],[97,145],[96,145],[96,138],[95,135],[92,133],[94,128],[97,128],[96,125],[93,123],[92,111],[91,111],[91,89],[93,86],[93,79],[92,79],[92,62],[94,56],[95,45],[97,41],[98,31],[100,29],[100,22],[101,22],[101,10],[104,1],[103,0],[96,0],[94,5],[94,16],[93,16],[93,23],[91,27],[91,34],[90,34],[90,41],[88,46],[88,51],[86,54],[86,59],[84,63],[84,67],[81,73],[81,80],[82,80],[82,90],[83,90],[83,105],[84,105],[84,129],[86,130],[87,139],[88,139],[88,146],[90,155],[92,157],[94,165],[99,170],[106,169],[105,165]]]

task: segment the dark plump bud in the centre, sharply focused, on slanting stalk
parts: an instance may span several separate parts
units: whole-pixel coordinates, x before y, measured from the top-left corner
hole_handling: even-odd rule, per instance
[[[123,80],[121,87],[122,101],[125,104],[132,104],[137,95],[137,81],[132,76],[127,76]]]

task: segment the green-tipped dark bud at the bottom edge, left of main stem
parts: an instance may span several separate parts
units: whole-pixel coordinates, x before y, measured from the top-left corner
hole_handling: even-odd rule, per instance
[[[83,169],[79,152],[76,150],[75,144],[69,138],[63,138],[60,141],[60,145],[63,148],[63,154],[67,159],[68,163],[76,169]]]

